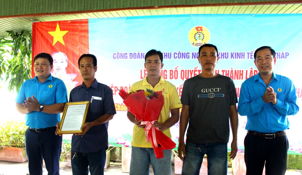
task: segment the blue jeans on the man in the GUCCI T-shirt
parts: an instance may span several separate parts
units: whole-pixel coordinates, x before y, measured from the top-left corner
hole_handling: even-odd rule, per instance
[[[186,143],[186,156],[182,164],[182,175],[199,174],[204,154],[207,154],[208,175],[226,175],[227,143]]]

